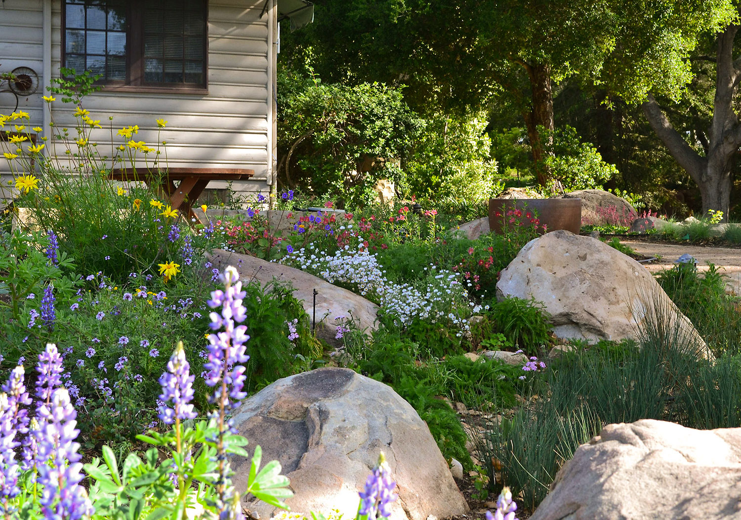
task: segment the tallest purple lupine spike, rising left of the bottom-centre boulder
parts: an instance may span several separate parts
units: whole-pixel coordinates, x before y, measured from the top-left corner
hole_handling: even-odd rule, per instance
[[[222,307],[222,314],[210,313],[211,330],[223,332],[208,335],[208,361],[203,365],[208,371],[206,384],[211,387],[226,385],[228,395],[224,396],[225,408],[228,410],[237,402],[244,399],[247,394],[242,391],[245,384],[245,367],[239,363],[250,359],[245,354],[245,342],[250,339],[247,334],[246,325],[236,325],[245,321],[245,307],[242,299],[247,294],[242,291],[242,282],[239,281],[239,273],[233,266],[227,267],[222,280],[225,282],[225,291],[217,290],[211,292],[211,299],[207,301],[210,308]],[[231,369],[230,369],[231,368]],[[231,388],[229,388],[231,387]],[[222,399],[222,389],[210,396],[211,402],[219,402]]]

